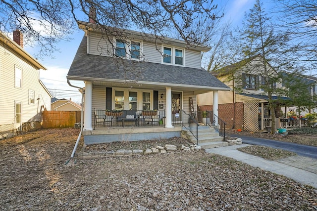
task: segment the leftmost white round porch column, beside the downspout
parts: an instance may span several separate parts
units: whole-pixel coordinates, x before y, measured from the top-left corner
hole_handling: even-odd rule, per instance
[[[84,130],[93,130],[92,127],[92,83],[85,81],[84,102]]]

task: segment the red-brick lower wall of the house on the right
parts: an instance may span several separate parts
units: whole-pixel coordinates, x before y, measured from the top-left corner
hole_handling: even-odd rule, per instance
[[[199,106],[200,111],[212,111],[212,105]],[[226,123],[227,128],[243,128],[243,102],[218,105],[218,115]]]

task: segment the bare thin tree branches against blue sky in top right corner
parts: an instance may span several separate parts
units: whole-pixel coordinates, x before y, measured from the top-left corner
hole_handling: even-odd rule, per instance
[[[316,69],[317,62],[317,0],[277,0],[279,25],[293,40],[287,49],[295,61]]]

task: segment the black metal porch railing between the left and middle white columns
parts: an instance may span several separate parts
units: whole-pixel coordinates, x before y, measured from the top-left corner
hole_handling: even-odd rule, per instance
[[[95,127],[139,127],[139,126],[164,126],[165,110],[115,110],[94,109]]]

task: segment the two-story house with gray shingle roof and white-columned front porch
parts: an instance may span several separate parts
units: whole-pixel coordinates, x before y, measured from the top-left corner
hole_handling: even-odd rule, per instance
[[[113,37],[96,29],[94,23],[79,21],[78,24],[85,36],[67,79],[85,83],[83,134],[87,144],[180,136],[181,127],[174,126],[182,124],[184,112],[190,115],[197,112],[197,94],[213,92],[213,104],[217,104],[217,92],[230,90],[201,69],[202,52],[209,51],[209,47],[188,48],[180,40],[156,39],[154,35],[130,30],[120,30],[120,37]],[[120,118],[112,113],[103,122],[108,127],[122,128],[94,130],[101,120],[95,109],[103,114],[105,110],[122,110]],[[146,116],[142,112],[145,110],[157,112]],[[214,113],[217,114],[217,109]],[[129,121],[132,121],[130,127],[124,127]],[[161,128],[138,130],[146,125]]]

